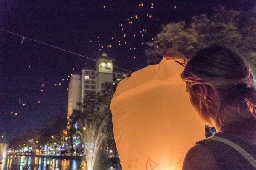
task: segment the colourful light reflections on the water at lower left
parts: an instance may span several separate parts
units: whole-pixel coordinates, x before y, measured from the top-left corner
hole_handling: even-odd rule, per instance
[[[0,160],[0,170],[78,170],[81,161],[34,156],[9,156]]]

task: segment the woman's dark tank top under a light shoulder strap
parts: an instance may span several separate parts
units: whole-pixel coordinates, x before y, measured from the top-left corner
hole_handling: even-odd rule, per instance
[[[253,142],[228,133],[216,133],[214,136],[218,136],[238,144],[247,153],[253,156],[254,159],[256,159],[256,144]],[[255,168],[253,168],[253,166],[240,153],[222,142],[202,140],[197,143],[204,144],[209,148],[209,150],[211,150],[215,156],[219,170],[255,170]]]

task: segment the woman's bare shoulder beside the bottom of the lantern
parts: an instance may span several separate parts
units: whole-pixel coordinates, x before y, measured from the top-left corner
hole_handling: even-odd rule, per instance
[[[214,154],[201,143],[195,144],[187,153],[183,170],[218,170]]]

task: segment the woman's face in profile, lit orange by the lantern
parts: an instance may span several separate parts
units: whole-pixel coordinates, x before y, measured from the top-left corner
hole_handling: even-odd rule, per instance
[[[189,93],[190,103],[195,109],[195,111],[197,111],[202,121],[206,125],[214,127],[215,125],[212,124],[212,115],[207,113],[204,104],[202,106],[200,105],[201,99],[203,99],[203,96],[200,96],[199,94],[202,94],[202,93],[198,91],[192,91],[194,89],[192,89],[192,87],[188,85],[186,85],[186,89],[187,89],[187,92]]]

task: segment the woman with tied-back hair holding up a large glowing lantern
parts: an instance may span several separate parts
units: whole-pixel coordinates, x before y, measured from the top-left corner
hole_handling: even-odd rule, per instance
[[[218,132],[188,151],[183,170],[255,170],[256,89],[247,62],[219,46],[189,59],[172,49],[164,57],[185,66],[181,78],[191,105]]]

